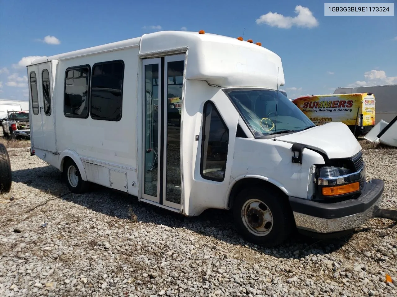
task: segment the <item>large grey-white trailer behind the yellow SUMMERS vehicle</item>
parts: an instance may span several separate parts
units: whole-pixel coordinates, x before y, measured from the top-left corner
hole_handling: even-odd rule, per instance
[[[397,116],[397,84],[336,88],[334,94],[372,93],[376,99],[375,124],[391,122]]]

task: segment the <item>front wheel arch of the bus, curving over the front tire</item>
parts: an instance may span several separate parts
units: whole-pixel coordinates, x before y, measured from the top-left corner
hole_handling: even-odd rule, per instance
[[[288,191],[282,185],[276,185],[276,182],[270,181],[266,177],[262,177],[260,175],[245,175],[236,179],[233,185],[231,185],[226,202],[227,204],[225,205],[227,209],[233,208],[237,194],[247,187],[272,188],[274,191],[284,196],[285,199],[288,199]]]

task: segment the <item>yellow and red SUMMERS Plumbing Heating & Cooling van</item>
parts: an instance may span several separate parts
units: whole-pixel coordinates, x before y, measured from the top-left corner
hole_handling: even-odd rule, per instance
[[[375,126],[375,96],[371,93],[312,95],[292,101],[316,125],[342,122],[356,135]]]

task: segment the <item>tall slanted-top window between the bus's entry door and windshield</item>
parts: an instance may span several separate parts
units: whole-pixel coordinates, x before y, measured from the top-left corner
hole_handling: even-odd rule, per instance
[[[223,181],[229,145],[229,129],[214,103],[204,104],[200,173],[202,178]]]

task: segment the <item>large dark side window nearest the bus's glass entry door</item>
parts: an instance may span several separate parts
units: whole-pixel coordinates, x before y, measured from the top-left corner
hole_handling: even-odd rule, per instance
[[[95,63],[91,79],[91,118],[119,121],[123,95],[124,62]]]

